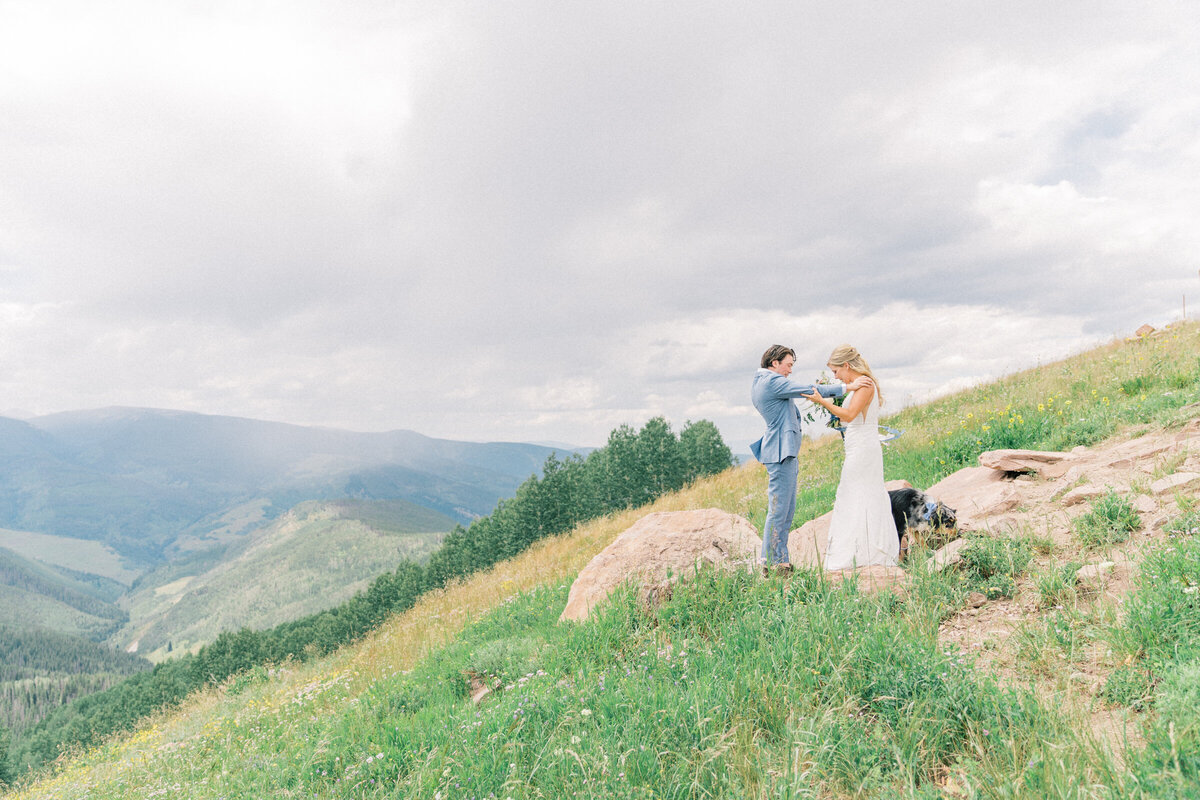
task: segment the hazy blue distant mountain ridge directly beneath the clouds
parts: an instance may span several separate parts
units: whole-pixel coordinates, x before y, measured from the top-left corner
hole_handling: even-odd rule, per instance
[[[140,408],[0,417],[0,527],[102,541],[151,566],[182,537],[304,500],[408,500],[460,522],[562,449],[356,433]]]

